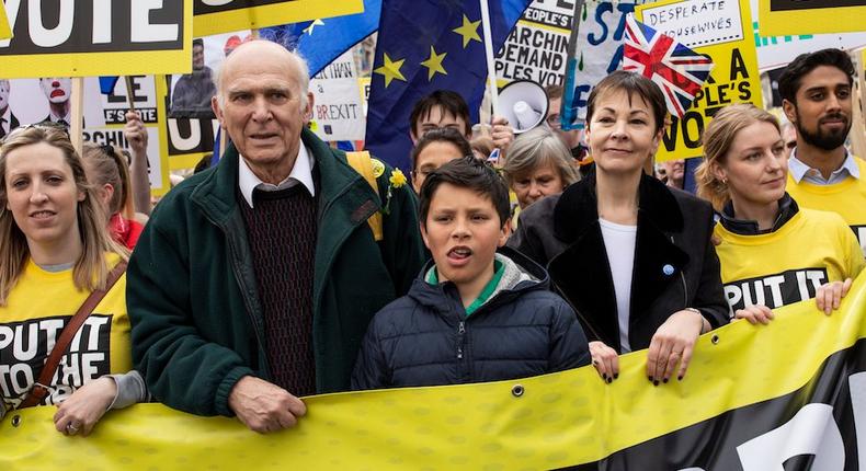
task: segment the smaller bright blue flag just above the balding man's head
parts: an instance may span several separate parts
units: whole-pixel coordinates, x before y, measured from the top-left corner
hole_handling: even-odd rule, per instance
[[[381,0],[364,0],[364,12],[259,30],[259,36],[297,50],[310,76],[319,73],[379,26]]]

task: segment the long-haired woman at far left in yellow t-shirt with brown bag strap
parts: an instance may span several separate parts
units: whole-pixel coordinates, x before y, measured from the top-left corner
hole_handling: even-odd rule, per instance
[[[64,129],[29,126],[0,146],[0,418],[20,407],[60,332],[125,249],[107,234],[93,186]],[[38,405],[55,427],[88,435],[109,409],[145,400],[132,370],[126,279],[84,321]],[[35,400],[34,400],[35,402]]]

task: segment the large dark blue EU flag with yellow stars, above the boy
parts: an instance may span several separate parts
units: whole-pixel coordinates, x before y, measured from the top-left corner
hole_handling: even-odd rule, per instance
[[[529,3],[488,0],[493,51]],[[409,114],[435,90],[463,95],[477,123],[487,78],[482,41],[479,0],[383,0],[366,148],[394,166],[410,169]]]

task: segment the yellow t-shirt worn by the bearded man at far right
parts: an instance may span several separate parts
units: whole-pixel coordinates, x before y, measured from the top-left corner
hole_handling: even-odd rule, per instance
[[[833,211],[854,230],[859,240],[861,249],[866,256],[866,162],[854,158],[861,171],[861,177],[846,177],[833,185],[816,185],[800,181],[796,183],[788,174],[787,191],[801,208]]]

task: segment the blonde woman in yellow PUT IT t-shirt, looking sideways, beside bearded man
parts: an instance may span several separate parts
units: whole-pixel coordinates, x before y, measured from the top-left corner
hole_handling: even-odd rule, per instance
[[[698,196],[719,211],[721,280],[738,319],[766,324],[773,309],[816,299],[839,308],[864,267],[854,233],[836,214],[799,208],[787,193],[787,157],[776,118],[753,105],[721,110],[704,133]]]

